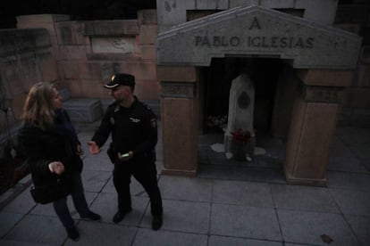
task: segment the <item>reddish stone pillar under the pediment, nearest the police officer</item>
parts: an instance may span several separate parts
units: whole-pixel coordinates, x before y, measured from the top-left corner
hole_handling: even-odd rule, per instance
[[[195,67],[157,67],[161,81],[163,174],[195,176],[198,168],[198,82]]]

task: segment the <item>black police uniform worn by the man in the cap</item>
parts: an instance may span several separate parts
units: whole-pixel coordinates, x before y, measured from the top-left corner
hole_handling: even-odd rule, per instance
[[[122,107],[119,102],[109,105],[91,140],[101,147],[112,134],[108,155],[114,162],[118,211],[124,215],[131,210],[130,176],[134,176],[150,198],[152,215],[162,219],[162,198],[156,177],[156,115],[136,96],[134,99],[130,108]],[[118,159],[118,152],[123,154],[130,151],[133,156],[129,160]]]

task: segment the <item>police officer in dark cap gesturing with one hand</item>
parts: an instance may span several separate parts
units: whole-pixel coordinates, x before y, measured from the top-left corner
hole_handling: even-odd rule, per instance
[[[113,221],[119,223],[131,210],[130,176],[134,176],[149,196],[152,227],[158,230],[162,226],[163,207],[156,178],[156,115],[133,94],[132,75],[115,74],[105,88],[115,102],[108,106],[100,127],[88,142],[88,151],[100,152],[112,133],[108,156],[114,162],[114,187],[118,193],[118,211]]]

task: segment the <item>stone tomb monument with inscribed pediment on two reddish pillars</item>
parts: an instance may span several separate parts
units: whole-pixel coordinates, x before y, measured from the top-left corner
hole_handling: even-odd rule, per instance
[[[224,114],[228,83],[241,68],[256,80],[256,100],[249,101],[256,102],[256,139],[282,139],[285,151],[277,162],[287,182],[324,185],[341,93],[352,81],[360,43],[352,33],[260,6],[235,7],[159,33],[162,172],[199,175],[199,135],[211,132],[209,115]]]

